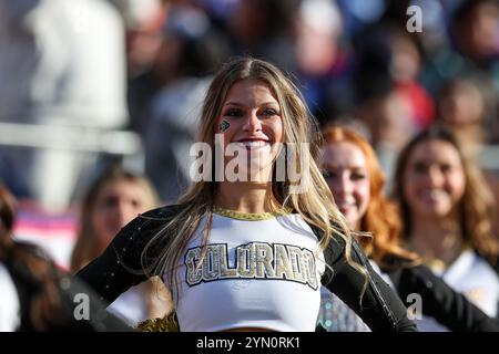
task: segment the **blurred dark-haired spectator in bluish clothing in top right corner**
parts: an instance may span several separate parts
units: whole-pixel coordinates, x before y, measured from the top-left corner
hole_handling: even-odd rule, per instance
[[[418,39],[425,66],[420,80],[434,95],[449,80],[483,74],[499,88],[499,2],[497,0],[415,1],[424,6]],[[429,20],[429,22],[427,21]],[[434,23],[428,28],[427,23]],[[445,32],[444,32],[445,30]]]

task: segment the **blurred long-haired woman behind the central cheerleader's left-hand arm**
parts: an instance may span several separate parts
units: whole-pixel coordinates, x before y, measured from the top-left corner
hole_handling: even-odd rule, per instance
[[[83,200],[71,270],[77,272],[100,256],[121,228],[156,206],[156,194],[144,177],[118,166],[104,171]],[[169,299],[162,280],[154,278],[121,294],[109,311],[136,325],[146,319],[163,317],[171,310]]]

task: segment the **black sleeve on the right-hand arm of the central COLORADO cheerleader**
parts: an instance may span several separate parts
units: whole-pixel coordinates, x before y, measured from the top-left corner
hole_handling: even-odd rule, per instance
[[[355,239],[352,260],[367,270],[367,278],[347,263],[343,239],[332,240],[324,254],[333,272],[326,270],[323,284],[353,309],[371,331],[417,332],[400,298],[373,270]]]

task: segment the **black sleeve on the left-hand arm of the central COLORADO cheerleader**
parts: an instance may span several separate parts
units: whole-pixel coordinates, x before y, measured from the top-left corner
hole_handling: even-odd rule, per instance
[[[101,300],[113,302],[121,293],[147,279],[143,269],[161,251],[161,244],[147,252],[143,264],[142,251],[151,238],[161,231],[172,214],[172,207],[149,211],[130,221],[105,251],[77,273]],[[149,261],[147,261],[149,259]]]

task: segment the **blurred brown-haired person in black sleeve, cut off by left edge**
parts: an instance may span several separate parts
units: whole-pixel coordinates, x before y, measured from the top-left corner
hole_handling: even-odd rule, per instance
[[[0,186],[0,332],[130,330],[39,248],[14,241],[14,221],[16,200]],[[86,314],[75,309],[83,304],[81,299],[88,301]],[[82,315],[80,321],[75,313]]]

